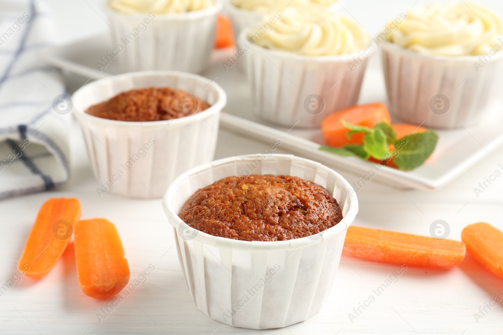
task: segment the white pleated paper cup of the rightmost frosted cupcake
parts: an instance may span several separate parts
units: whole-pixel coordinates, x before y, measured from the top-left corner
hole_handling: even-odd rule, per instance
[[[381,46],[389,107],[403,121],[459,128],[474,125],[503,106],[503,52],[477,71],[475,63],[482,65],[478,56],[429,56],[390,42]]]

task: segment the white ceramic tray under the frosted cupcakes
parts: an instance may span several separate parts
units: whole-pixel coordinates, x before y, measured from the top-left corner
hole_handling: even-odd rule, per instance
[[[109,36],[104,34],[69,45],[44,50],[40,56],[49,64],[61,69],[99,79],[121,73],[118,62],[100,71],[97,63],[108,51],[113,50]],[[376,164],[356,157],[342,157],[318,150],[323,145],[319,130],[292,129],[267,125],[257,119],[251,107],[250,93],[244,74],[239,66],[223,66],[232,49],[215,50],[210,68],[203,75],[217,81],[227,92],[227,113],[222,114],[220,128],[240,136],[253,138],[265,143],[281,140],[282,149],[320,163],[361,174],[362,177],[373,170],[373,180],[392,183],[398,187],[434,190],[455,179],[483,157],[503,143],[501,131],[503,121],[490,120],[477,127],[457,130],[439,130],[437,148],[422,166],[413,171],[400,171],[389,167],[376,168]],[[120,55],[118,56],[120,57]],[[380,53],[369,60],[358,103],[386,101],[384,78],[380,65]],[[378,172],[377,172],[378,171]]]

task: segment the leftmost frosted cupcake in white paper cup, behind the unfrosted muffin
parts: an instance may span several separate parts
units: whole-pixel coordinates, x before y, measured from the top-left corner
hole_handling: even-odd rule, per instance
[[[202,72],[215,41],[216,5],[212,0],[109,0],[122,70]]]

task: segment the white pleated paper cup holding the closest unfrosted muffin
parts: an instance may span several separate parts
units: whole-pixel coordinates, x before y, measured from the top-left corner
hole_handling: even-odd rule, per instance
[[[246,173],[313,181],[337,199],[344,218],[309,237],[248,242],[197,231],[178,216],[198,189]],[[173,225],[180,264],[197,307],[232,326],[267,329],[304,321],[321,308],[339,266],[346,230],[358,212],[358,200],[339,173],[320,163],[292,155],[249,155],[183,173],[166,190],[163,208]]]

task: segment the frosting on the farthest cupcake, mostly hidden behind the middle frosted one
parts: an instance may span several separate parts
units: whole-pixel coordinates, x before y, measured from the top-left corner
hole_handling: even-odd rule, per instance
[[[337,0],[231,0],[232,4],[246,11],[267,14],[272,11],[283,11],[287,7],[306,5],[330,6]]]

